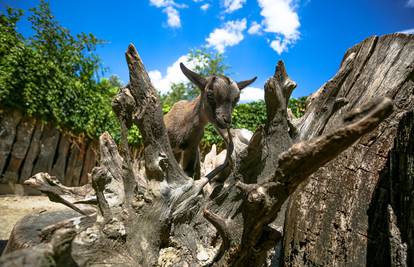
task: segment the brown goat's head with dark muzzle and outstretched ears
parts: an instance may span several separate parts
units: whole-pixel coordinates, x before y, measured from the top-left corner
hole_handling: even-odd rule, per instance
[[[189,70],[183,63],[180,63],[180,67],[184,75],[201,90],[201,99],[208,120],[220,129],[230,128],[231,114],[240,99],[240,91],[253,83],[257,77],[234,82],[222,75],[203,77]]]

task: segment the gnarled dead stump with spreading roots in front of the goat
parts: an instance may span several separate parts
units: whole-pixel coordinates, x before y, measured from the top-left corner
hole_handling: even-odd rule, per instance
[[[20,252],[19,257],[6,254],[1,263],[13,264],[37,253],[56,262],[60,255],[70,255],[81,266],[263,266],[281,239],[271,224],[286,199],[393,110],[389,98],[372,99],[356,106],[329,132],[298,142],[301,130],[295,129],[287,114],[296,84],[280,61],[265,85],[266,124],[246,148],[235,149],[231,164],[220,177],[194,181],[174,159],[159,98],[133,45],[128,47],[126,60],[130,83],[113,102],[122,126],[121,145],[118,150],[108,133],[100,138],[101,164],[92,172],[96,198],[62,187],[47,174],[27,182],[68,206],[96,201],[96,222],[50,226],[48,243],[37,246],[49,249]],[[326,102],[330,115],[344,103],[332,96]],[[132,124],[144,138],[145,172],[132,167],[126,140]],[[207,184],[211,191],[203,190]],[[77,209],[93,218],[81,206]],[[64,227],[74,231],[62,232]],[[73,237],[70,246],[56,242],[68,236]]]

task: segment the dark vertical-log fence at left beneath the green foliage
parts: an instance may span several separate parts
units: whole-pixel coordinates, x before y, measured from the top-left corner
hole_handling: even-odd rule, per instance
[[[59,131],[52,124],[0,110],[0,184],[13,191],[38,172],[48,172],[67,186],[88,182],[97,162],[96,141]],[[7,192],[7,190],[6,190]]]

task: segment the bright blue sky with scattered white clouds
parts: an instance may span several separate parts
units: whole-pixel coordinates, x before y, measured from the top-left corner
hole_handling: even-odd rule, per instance
[[[37,4],[0,0],[0,10]],[[50,6],[71,33],[107,42],[97,49],[105,76],[128,82],[124,53],[133,43],[165,93],[172,82],[186,81],[179,62],[194,66],[189,50],[205,47],[224,54],[233,80],[258,77],[241,102],[263,99],[278,60],[298,84],[293,96],[306,96],[333,77],[353,45],[372,35],[414,33],[414,0],[51,0]],[[24,19],[18,30],[32,33]]]

